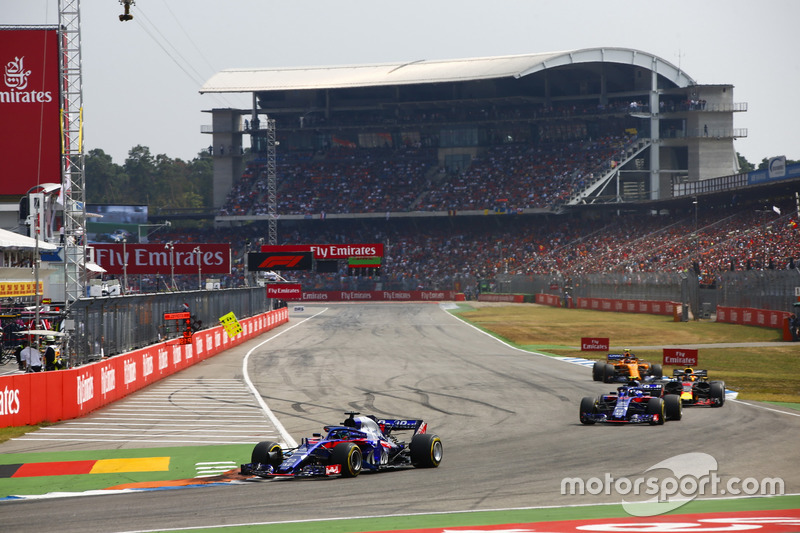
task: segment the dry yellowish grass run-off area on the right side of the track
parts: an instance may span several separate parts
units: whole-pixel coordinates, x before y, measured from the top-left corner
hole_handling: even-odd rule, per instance
[[[771,342],[774,346],[699,348],[699,368],[724,380],[739,398],[800,402],[800,345],[780,342],[778,330],[716,322],[674,322],[671,317],[610,313],[537,305],[480,307],[460,316],[522,348],[554,355],[600,359],[604,353],[580,351],[581,337],[608,337],[612,349],[631,346],[652,362],[662,359],[661,346],[721,342]],[[671,374],[674,367],[665,367]],[[590,374],[587,371],[587,378]]]

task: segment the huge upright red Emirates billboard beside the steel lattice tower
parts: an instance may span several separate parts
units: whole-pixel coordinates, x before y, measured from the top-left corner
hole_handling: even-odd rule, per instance
[[[58,32],[0,30],[0,65],[0,146],[8,154],[0,158],[3,194],[61,183]]]

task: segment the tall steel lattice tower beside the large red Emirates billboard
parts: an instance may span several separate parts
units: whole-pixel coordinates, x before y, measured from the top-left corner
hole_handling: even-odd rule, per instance
[[[80,0],[59,0],[61,78],[61,190],[64,200],[64,304],[67,329],[71,306],[85,295],[86,181],[83,154]],[[71,338],[68,335],[67,338]],[[69,349],[69,347],[68,347]],[[70,356],[72,350],[70,350]],[[73,361],[70,361],[73,362]]]

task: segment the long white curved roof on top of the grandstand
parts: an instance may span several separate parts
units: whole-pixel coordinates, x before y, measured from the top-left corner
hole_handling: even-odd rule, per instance
[[[554,67],[580,63],[620,63],[657,72],[678,87],[695,85],[679,67],[653,54],[630,48],[586,48],[561,52],[417,60],[404,63],[328,67],[226,69],[214,74],[200,93],[342,89],[522,78]]]

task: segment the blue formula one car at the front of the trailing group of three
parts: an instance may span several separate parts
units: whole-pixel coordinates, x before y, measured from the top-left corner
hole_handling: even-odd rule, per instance
[[[648,383],[617,387],[617,392],[601,394],[597,398],[586,396],[581,400],[581,424],[595,422],[649,423],[661,425],[667,420],[680,420],[683,416],[681,400],[675,394],[664,394],[662,385]]]

